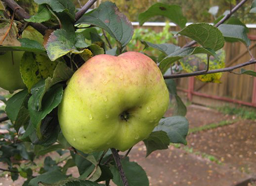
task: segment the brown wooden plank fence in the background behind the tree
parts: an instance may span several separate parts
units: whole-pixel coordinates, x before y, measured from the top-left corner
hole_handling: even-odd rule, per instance
[[[137,27],[136,23],[134,23]],[[250,26],[248,37],[251,40],[250,51],[256,57],[256,26]],[[156,32],[160,32],[163,26],[143,26]],[[171,26],[170,30],[177,31],[176,26]],[[187,40],[179,38],[178,45],[183,46]],[[160,43],[159,43],[160,44]],[[226,67],[246,62],[250,59],[245,45],[241,42],[225,43]],[[256,70],[256,65],[244,67],[245,69]],[[240,71],[240,69],[239,69]],[[194,103],[219,106],[227,102],[256,107],[256,77],[249,75],[236,75],[225,72],[222,75],[221,83],[204,83],[194,77],[183,77],[176,80],[177,89],[180,94],[186,96]]]

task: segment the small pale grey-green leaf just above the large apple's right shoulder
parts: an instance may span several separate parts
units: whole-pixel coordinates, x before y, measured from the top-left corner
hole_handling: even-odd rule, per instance
[[[176,50],[180,49],[179,46],[176,46],[174,44],[169,44],[169,43],[153,44],[153,43],[150,43],[147,41],[141,41],[141,43],[145,45],[145,48],[152,47],[152,48],[160,50],[161,52],[163,52],[166,55],[170,55],[173,52],[175,52]]]

